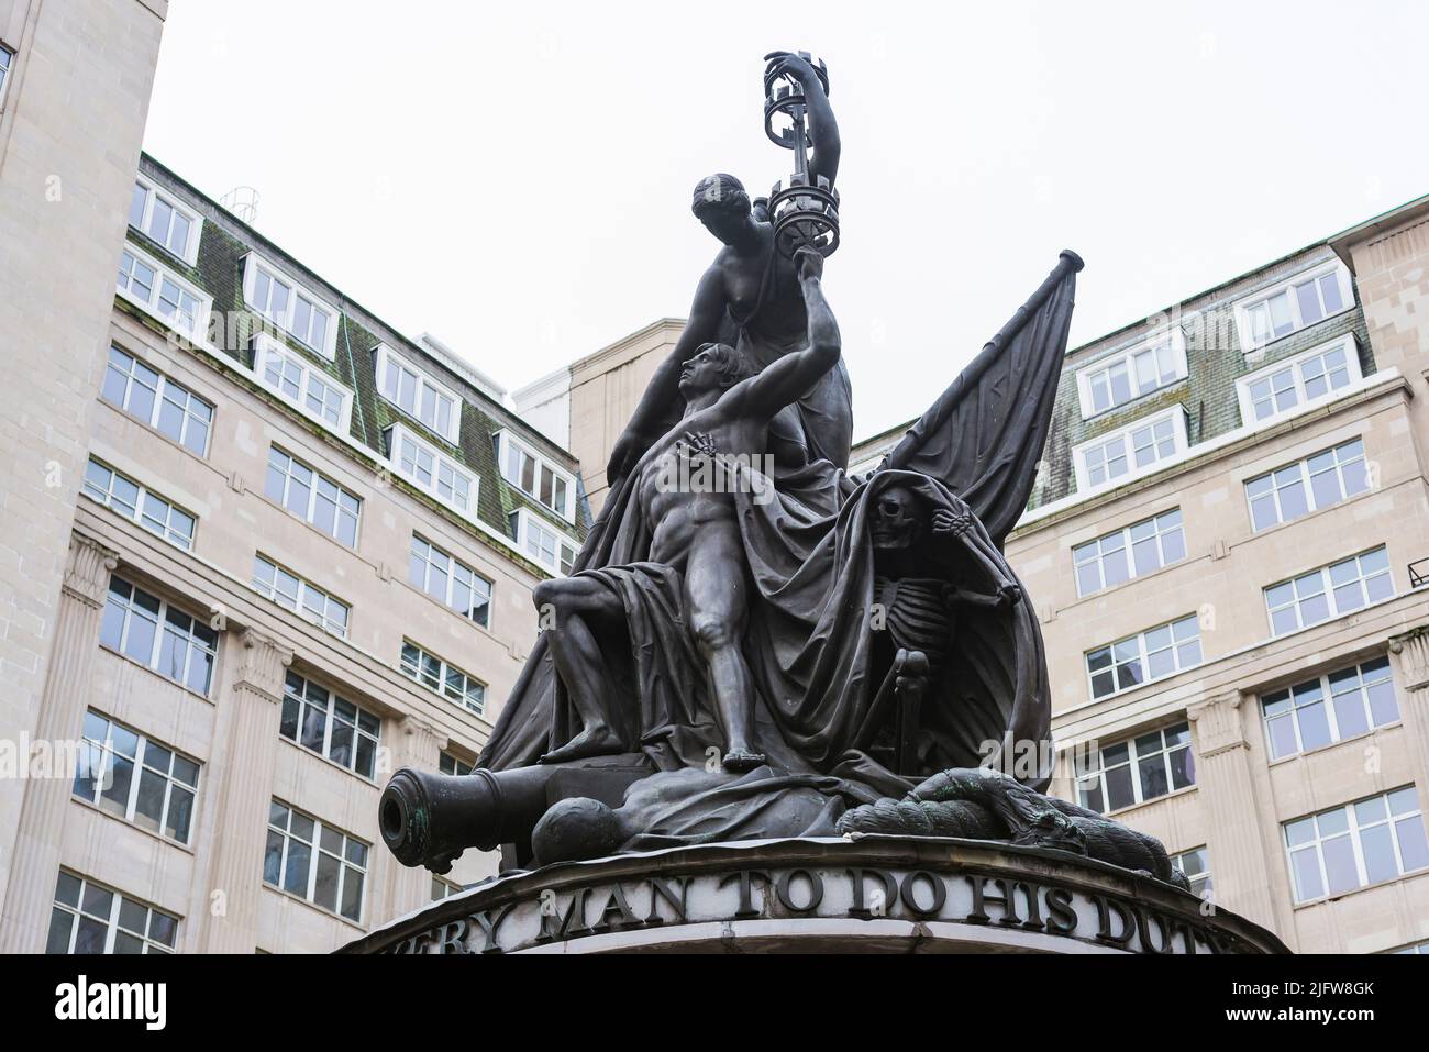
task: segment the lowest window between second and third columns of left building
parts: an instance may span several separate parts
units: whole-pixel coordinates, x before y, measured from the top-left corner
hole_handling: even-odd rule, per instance
[[[367,845],[282,800],[273,800],[263,880],[362,923]]]

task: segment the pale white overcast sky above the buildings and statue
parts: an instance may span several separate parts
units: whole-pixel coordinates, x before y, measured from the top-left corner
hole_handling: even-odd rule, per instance
[[[856,433],[920,413],[1056,263],[1072,343],[1429,193],[1429,4],[174,0],[146,149],[507,387],[683,317],[690,189],[790,170],[762,56],[829,64],[825,286]]]

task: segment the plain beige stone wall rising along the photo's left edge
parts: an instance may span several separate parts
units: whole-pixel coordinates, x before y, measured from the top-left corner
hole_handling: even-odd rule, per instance
[[[0,0],[0,738],[33,732],[166,3]],[[0,780],[0,902],[26,783]],[[53,880],[53,878],[51,878]],[[50,888],[53,892],[53,886]],[[9,912],[7,912],[9,916]]]

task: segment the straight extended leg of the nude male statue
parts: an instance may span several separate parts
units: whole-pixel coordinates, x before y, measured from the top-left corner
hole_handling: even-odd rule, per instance
[[[755,683],[740,650],[749,616],[749,575],[733,520],[694,532],[684,567],[684,607],[694,645],[710,670],[725,725],[725,769],[753,770],[765,756],[750,748]]]

